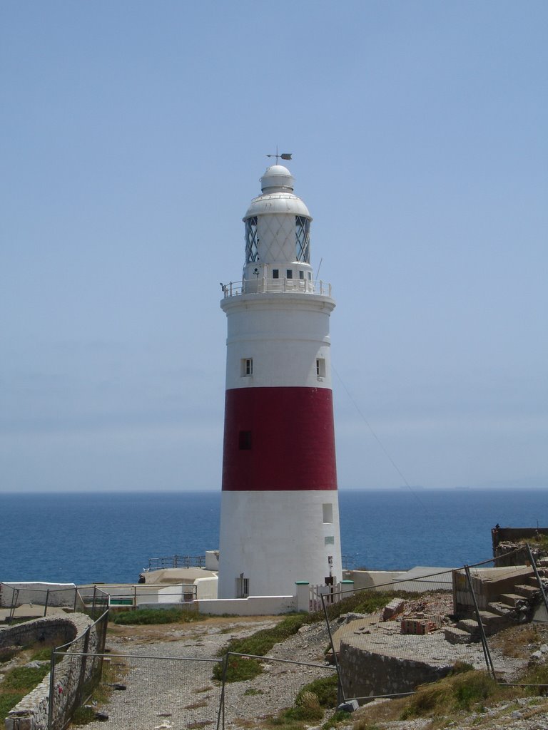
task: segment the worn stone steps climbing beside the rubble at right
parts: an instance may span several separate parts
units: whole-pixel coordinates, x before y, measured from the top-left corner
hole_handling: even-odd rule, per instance
[[[520,580],[521,583],[514,585],[514,592],[499,594],[498,600],[487,605],[487,610],[479,611],[487,636],[516,623],[530,621],[532,607],[539,601],[539,584],[533,573],[526,577],[520,576]],[[545,581],[546,579],[543,582]],[[447,627],[444,631],[446,640],[452,644],[468,644],[481,640],[475,618],[463,618],[456,626]]]

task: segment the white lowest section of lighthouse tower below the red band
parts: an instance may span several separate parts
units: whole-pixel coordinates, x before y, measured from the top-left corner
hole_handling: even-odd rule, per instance
[[[297,580],[343,577],[336,490],[224,491],[220,537],[219,598],[292,596]]]

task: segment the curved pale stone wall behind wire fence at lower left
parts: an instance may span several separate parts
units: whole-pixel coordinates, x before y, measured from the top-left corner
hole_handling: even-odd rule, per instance
[[[91,628],[90,628],[91,627]],[[89,630],[87,650],[99,652],[104,649],[104,639],[96,631],[94,622],[86,615],[72,614],[66,617],[38,618],[36,621],[27,621],[16,626],[0,629],[0,647],[9,645],[26,645],[34,642],[54,642],[61,646],[71,642],[76,637],[83,637]],[[81,651],[79,639],[73,650]],[[70,650],[69,650],[70,652]],[[88,673],[93,668],[89,663]],[[55,688],[53,702],[56,715],[63,716],[66,709],[72,707],[79,690],[78,677],[81,662],[67,653],[56,665]],[[10,710],[6,720],[6,730],[45,730],[49,712],[50,675],[47,674],[42,682]]]

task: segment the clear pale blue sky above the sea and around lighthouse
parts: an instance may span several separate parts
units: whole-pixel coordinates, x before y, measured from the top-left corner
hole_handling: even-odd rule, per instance
[[[411,485],[548,486],[547,28],[2,1],[0,490],[220,488],[219,282],[276,144],[338,305],[340,488],[402,485],[385,451]]]

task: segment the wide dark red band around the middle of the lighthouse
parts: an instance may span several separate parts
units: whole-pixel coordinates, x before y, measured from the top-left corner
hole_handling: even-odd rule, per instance
[[[224,413],[223,491],[337,488],[327,388],[235,388]]]

